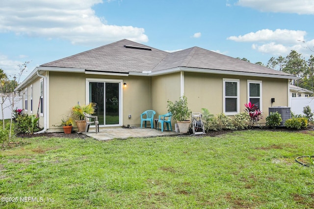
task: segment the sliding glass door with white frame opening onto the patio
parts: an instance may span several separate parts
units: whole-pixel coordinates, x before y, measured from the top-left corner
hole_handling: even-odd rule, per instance
[[[121,82],[114,80],[87,80],[89,102],[96,103],[94,115],[99,125],[118,126],[121,121]]]

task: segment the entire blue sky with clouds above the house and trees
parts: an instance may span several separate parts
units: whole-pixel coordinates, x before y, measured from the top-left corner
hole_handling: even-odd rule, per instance
[[[314,0],[11,0],[0,3],[0,68],[13,75],[31,61],[22,81],[36,66],[121,39],[252,63],[292,49],[308,59],[313,22]]]

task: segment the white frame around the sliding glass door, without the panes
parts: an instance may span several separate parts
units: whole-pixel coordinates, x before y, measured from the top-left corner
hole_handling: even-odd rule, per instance
[[[121,79],[102,79],[102,78],[86,78],[86,104],[89,103],[89,83],[119,83],[119,124],[99,125],[100,127],[115,127],[123,124],[123,80]],[[105,104],[105,102],[104,102]],[[105,107],[104,107],[105,108]]]

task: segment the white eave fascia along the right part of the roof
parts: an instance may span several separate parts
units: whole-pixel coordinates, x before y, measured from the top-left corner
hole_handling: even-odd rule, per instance
[[[174,72],[199,72],[199,73],[212,73],[212,74],[224,74],[224,75],[241,75],[241,76],[251,76],[251,77],[267,77],[267,78],[283,78],[283,79],[297,79],[295,75],[279,75],[279,74],[268,74],[268,73],[256,73],[256,72],[240,72],[240,71],[231,71],[231,70],[213,70],[213,69],[201,69],[201,68],[186,68],[186,67],[177,67],[166,70],[159,70],[155,72],[130,72],[130,75],[138,76],[157,76],[164,75]]]

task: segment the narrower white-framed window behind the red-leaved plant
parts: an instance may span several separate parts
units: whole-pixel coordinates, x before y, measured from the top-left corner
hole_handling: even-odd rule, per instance
[[[262,81],[248,81],[248,101],[262,111]]]

